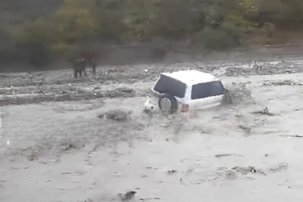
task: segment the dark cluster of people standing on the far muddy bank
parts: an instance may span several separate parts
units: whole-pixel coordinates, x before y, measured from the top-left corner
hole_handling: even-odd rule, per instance
[[[91,66],[92,68],[92,75],[96,75],[96,63],[94,59],[91,59],[89,61],[86,61],[84,58],[76,59],[73,63],[73,69],[74,69],[74,78],[82,77],[82,74],[84,76],[87,76],[85,72],[86,65]]]

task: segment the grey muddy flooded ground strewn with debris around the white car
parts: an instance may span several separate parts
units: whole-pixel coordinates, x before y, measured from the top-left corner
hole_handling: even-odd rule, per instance
[[[0,201],[301,201],[303,61],[290,54],[0,74]],[[220,77],[233,103],[144,113],[159,73],[185,69]]]

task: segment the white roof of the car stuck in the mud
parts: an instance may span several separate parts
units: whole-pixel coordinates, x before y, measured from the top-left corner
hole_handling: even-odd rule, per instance
[[[186,71],[178,71],[178,72],[172,72],[172,73],[161,73],[165,76],[169,76],[171,78],[174,78],[176,80],[179,80],[185,84],[189,85],[195,85],[198,83],[206,83],[210,81],[216,81],[219,80],[215,76],[200,72],[197,70],[186,70]]]

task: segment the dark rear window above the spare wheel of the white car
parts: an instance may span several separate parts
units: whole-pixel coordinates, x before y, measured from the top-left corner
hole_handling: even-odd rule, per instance
[[[173,96],[183,98],[185,96],[186,84],[169,76],[161,75],[154,90],[159,93],[170,93]]]

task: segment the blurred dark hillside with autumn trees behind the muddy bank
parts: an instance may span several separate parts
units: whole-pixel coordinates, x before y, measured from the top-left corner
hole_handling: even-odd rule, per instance
[[[175,51],[287,43],[301,32],[302,8],[298,0],[1,1],[0,71],[66,68],[77,57],[162,62]]]

